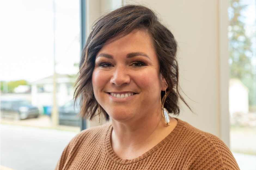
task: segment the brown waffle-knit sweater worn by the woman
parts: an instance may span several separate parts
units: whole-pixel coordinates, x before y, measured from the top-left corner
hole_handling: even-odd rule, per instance
[[[165,139],[132,160],[113,152],[110,123],[83,130],[66,146],[55,169],[239,169],[218,137],[177,120]]]

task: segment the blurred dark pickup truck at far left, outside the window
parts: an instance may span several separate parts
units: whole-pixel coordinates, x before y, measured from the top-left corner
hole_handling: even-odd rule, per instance
[[[1,118],[20,120],[39,116],[38,108],[26,100],[1,100],[0,110]]]

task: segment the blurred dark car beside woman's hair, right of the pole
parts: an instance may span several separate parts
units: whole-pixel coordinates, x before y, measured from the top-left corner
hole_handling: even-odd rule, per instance
[[[74,105],[74,100],[66,102],[58,111],[60,125],[80,126],[80,116],[77,115],[80,107],[77,103]]]

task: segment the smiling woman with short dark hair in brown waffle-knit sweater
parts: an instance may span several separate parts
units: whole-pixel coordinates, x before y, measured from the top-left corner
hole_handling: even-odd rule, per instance
[[[83,98],[83,117],[112,122],[79,133],[56,169],[239,169],[220,139],[168,116],[179,114],[179,98],[185,102],[176,50],[146,7],[99,19],[83,49],[75,98]]]

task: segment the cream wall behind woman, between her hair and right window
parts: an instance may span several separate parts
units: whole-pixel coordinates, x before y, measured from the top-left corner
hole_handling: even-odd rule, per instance
[[[111,4],[113,0],[103,1]],[[102,4],[100,0],[98,2]],[[135,2],[157,11],[162,23],[178,41],[180,84],[190,98],[184,96],[186,101],[196,113],[191,113],[182,104],[179,118],[215,134],[229,145],[228,1],[125,1],[126,4]],[[100,11],[102,6],[98,9]]]

